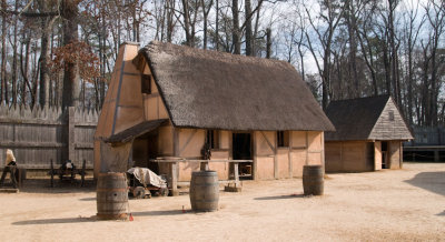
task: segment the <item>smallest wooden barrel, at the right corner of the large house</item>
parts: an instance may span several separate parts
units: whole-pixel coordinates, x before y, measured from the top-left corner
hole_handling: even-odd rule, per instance
[[[323,195],[324,171],[322,165],[305,165],[303,168],[303,190],[305,195]]]

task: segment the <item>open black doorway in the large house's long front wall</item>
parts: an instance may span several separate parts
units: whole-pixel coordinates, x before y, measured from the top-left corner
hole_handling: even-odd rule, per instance
[[[234,160],[253,160],[250,133],[234,133],[231,143]],[[239,163],[238,173],[243,179],[253,179],[253,163]]]

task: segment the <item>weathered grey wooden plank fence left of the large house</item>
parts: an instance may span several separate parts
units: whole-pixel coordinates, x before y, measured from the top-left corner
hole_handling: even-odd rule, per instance
[[[81,165],[85,159],[91,169],[98,117],[96,110],[73,107],[62,111],[0,105],[0,168],[11,149],[19,167],[27,169],[49,169],[51,159],[57,167],[66,159]]]

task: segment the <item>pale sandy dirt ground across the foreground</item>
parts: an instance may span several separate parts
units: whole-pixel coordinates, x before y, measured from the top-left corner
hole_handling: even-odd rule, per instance
[[[209,213],[188,194],[130,200],[134,221],[98,221],[91,184],[48,185],[0,193],[0,241],[445,241],[445,163],[328,174],[323,196],[300,179],[246,181]]]

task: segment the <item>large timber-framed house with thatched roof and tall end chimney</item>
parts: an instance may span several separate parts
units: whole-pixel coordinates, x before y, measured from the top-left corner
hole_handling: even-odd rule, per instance
[[[258,180],[301,177],[305,164],[324,164],[324,131],[333,130],[287,62],[126,43],[95,135],[95,174],[135,162],[181,182],[210,159],[219,180],[234,172]]]

